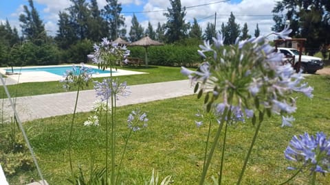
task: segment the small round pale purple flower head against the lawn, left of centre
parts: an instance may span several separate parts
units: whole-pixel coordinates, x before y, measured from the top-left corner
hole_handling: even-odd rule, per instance
[[[142,130],[147,127],[149,119],[146,117],[146,113],[141,110],[133,110],[127,117],[127,125],[133,132]]]

